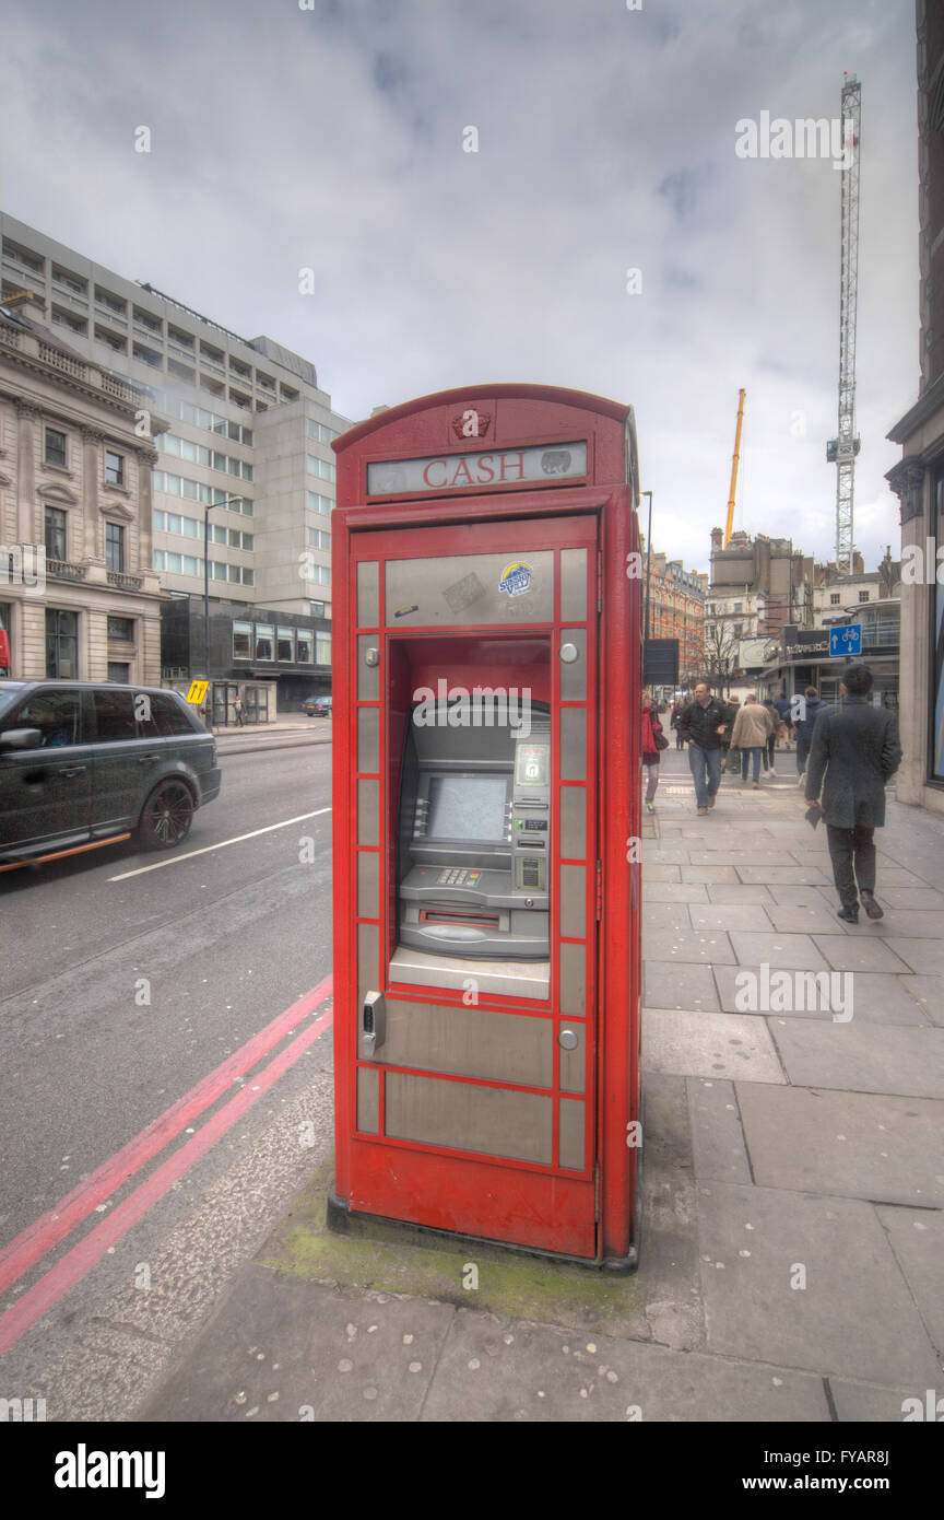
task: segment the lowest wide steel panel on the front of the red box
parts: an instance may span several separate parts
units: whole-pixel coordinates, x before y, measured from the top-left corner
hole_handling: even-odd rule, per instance
[[[384,1132],[398,1140],[549,1164],[552,1102],[537,1093],[389,1072]]]

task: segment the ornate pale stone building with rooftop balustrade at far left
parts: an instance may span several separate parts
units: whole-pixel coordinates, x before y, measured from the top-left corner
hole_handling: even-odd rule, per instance
[[[0,628],[9,676],[161,684],[150,392],[0,304]]]

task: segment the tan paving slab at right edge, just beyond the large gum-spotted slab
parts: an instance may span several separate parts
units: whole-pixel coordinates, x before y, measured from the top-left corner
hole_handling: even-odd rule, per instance
[[[944,1208],[944,1104],[751,1082],[736,1102],[759,1187]]]

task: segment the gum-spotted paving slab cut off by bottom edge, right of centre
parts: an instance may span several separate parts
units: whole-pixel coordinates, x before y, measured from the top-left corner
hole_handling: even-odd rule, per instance
[[[423,1421],[830,1420],[823,1383],[789,1368],[571,1335],[460,1309]]]

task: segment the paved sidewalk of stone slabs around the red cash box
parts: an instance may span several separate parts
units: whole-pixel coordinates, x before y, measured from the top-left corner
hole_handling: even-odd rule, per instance
[[[328,1160],[137,1418],[900,1423],[944,1394],[944,824],[889,804],[885,918],[853,927],[795,757],[706,818],[686,758],[643,844],[639,1272],[328,1236]],[[777,970],[842,996],[782,1008]]]

